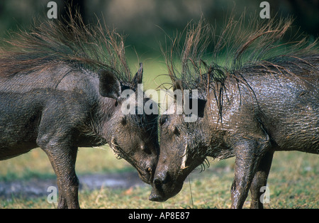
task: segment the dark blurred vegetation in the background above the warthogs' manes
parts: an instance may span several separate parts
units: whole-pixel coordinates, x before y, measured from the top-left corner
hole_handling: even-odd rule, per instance
[[[0,1],[0,36],[18,27],[28,27],[33,17],[48,19],[47,3],[50,0],[2,0]],[[86,23],[94,23],[96,16],[109,26],[118,28],[128,36],[126,45],[136,49],[138,55],[159,55],[159,42],[164,43],[165,33],[183,31],[186,24],[198,21],[201,13],[218,26],[225,16],[235,9],[237,15],[257,13],[262,1],[256,0],[55,0],[58,15],[65,15],[65,6],[72,2],[79,8]],[[294,28],[318,37],[319,1],[281,0],[268,1],[271,16],[293,16]]]

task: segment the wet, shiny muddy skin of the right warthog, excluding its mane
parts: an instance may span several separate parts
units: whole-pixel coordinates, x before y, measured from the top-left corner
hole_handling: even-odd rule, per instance
[[[189,31],[185,49],[196,45],[191,41],[200,39],[196,35],[202,27],[199,24]],[[250,37],[257,39],[253,34]],[[189,64],[194,64],[198,58],[185,52],[182,58],[190,57]],[[197,67],[202,63],[198,62]],[[184,62],[182,67],[189,64]],[[167,67],[172,67],[169,62]],[[206,156],[216,160],[235,156],[231,207],[242,208],[250,190],[251,208],[262,208],[259,190],[267,185],[275,151],[319,154],[318,50],[307,48],[298,57],[281,55],[234,70],[213,64],[203,75],[194,73],[197,67],[189,69],[191,72],[185,68],[181,76],[171,70],[174,89],[201,92],[198,98],[203,106],[198,104],[198,112],[203,115],[187,123],[185,114],[174,114],[177,102],[162,114],[159,161],[150,200],[164,202],[177,195],[187,175]],[[217,73],[223,73],[223,77]]]

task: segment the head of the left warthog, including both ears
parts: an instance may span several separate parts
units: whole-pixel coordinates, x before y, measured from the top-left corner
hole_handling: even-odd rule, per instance
[[[133,87],[123,85],[105,70],[99,76],[100,94],[116,99],[111,108],[105,108],[113,110],[113,114],[106,121],[103,134],[117,158],[128,161],[138,170],[141,180],[151,184],[159,155],[157,103],[141,89],[142,64],[133,78]],[[152,109],[156,112],[149,111]]]

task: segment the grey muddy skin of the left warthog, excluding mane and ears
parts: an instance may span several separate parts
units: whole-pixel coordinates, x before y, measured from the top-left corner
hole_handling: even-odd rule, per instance
[[[56,72],[54,77],[52,72],[40,75],[40,80],[57,77]],[[61,208],[79,207],[74,170],[79,146],[108,143],[138,170],[145,183],[152,182],[151,170],[155,170],[158,156],[155,116],[123,115],[121,99],[116,102],[99,94],[96,74],[69,72],[53,89],[51,83],[38,82],[38,77],[28,74],[0,79],[1,160],[42,148],[57,175]],[[29,82],[33,87],[26,86]],[[138,125],[139,121],[143,125]]]

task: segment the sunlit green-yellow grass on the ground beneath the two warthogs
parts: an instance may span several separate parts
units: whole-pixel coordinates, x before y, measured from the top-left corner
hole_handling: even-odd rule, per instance
[[[105,173],[135,171],[123,160],[117,160],[111,150],[80,148],[77,159],[77,173]],[[211,167],[202,173],[194,170],[179,194],[167,202],[150,202],[150,186],[132,187],[125,190],[102,187],[100,190],[79,192],[82,208],[229,208],[230,185],[233,182],[234,158],[225,161],[211,161]],[[40,149],[26,155],[1,161],[1,180],[16,171],[13,177],[27,179],[30,176],[53,177],[50,163]],[[269,175],[270,203],[266,208],[319,208],[318,156],[300,152],[275,153]],[[192,195],[192,199],[191,199]],[[55,208],[47,197],[20,198],[13,195],[11,200],[1,200],[0,208]],[[250,207],[250,197],[244,208]]]

